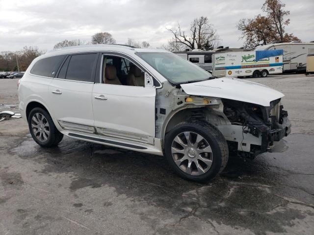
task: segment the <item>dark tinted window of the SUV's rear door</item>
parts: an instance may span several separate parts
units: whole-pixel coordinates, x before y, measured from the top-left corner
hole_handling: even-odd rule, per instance
[[[94,78],[92,74],[96,68],[97,57],[98,55],[96,53],[71,55],[65,78],[69,80],[93,82]]]

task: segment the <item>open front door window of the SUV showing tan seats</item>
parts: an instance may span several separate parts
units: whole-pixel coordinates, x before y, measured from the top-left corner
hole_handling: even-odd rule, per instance
[[[112,55],[104,55],[102,83],[144,87],[144,71],[130,60]]]

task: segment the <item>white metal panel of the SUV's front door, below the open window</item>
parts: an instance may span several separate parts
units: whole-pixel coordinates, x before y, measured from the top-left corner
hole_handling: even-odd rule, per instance
[[[96,99],[104,95],[106,100]],[[95,84],[95,127],[155,137],[155,88]]]

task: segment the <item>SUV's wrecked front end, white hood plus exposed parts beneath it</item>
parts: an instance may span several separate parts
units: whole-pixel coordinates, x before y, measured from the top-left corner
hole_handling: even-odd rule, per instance
[[[181,95],[192,99],[215,99],[215,103],[205,106],[203,117],[223,134],[231,151],[245,158],[267,151],[283,151],[279,146],[284,144],[277,143],[291,130],[288,112],[281,104],[284,94],[235,78],[181,84],[181,88]],[[195,112],[200,113],[199,110]]]

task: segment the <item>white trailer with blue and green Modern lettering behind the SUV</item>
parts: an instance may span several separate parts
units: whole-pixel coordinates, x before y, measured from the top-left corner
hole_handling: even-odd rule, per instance
[[[266,77],[282,73],[283,50],[225,52],[213,54],[212,74],[227,77]]]

